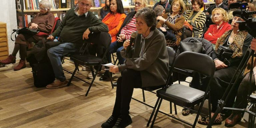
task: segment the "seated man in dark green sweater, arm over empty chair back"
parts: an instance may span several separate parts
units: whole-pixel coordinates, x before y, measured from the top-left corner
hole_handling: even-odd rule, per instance
[[[62,44],[47,50],[51,61],[55,80],[46,88],[55,89],[67,86],[68,81],[64,75],[60,58],[68,53],[77,52],[78,48],[89,39],[92,32],[108,32],[108,26],[102,23],[90,12],[91,0],[78,0],[78,7],[68,10],[57,30],[47,39],[60,37]]]

